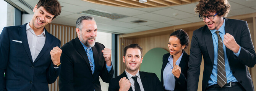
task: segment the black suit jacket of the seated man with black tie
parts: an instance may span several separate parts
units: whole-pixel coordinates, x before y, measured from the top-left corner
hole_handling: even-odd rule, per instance
[[[157,78],[155,73],[149,73],[149,72],[143,72],[139,71],[139,75],[141,77],[141,82],[144,88],[144,91],[164,91],[162,84],[159,81],[159,78]],[[125,71],[123,74],[113,78],[109,82],[109,91],[118,91],[119,90],[119,80],[123,77],[127,77]],[[133,91],[133,89],[130,87],[128,91]]]

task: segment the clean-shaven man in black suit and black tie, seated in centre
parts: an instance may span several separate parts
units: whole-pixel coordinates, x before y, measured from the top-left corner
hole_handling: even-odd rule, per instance
[[[109,91],[164,91],[156,74],[139,71],[143,59],[143,49],[139,44],[127,45],[123,52],[126,69],[110,81]]]

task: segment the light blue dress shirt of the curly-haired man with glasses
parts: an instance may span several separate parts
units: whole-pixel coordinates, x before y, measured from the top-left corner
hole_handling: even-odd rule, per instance
[[[213,41],[213,46],[214,46],[214,64],[213,64],[213,69],[212,69],[212,74],[210,76],[210,80],[208,81],[208,86],[217,84],[217,66],[218,66],[218,36],[215,33],[217,30],[211,30],[212,33],[212,41]],[[225,35],[225,20],[222,24],[222,26],[219,29],[220,37],[223,41],[224,35]],[[226,69],[226,76],[227,76],[227,83],[229,82],[238,82],[237,79],[234,77],[230,66],[228,64],[228,57],[227,57],[227,52],[226,52],[226,46],[223,43],[223,50],[224,50],[224,57],[225,57],[225,69]],[[239,56],[240,54],[241,47],[239,48],[238,53],[234,53],[236,56]]]

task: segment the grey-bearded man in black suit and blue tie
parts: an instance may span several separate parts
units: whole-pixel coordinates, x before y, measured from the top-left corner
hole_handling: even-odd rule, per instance
[[[97,25],[91,16],[76,20],[76,33],[61,48],[59,91],[101,91],[99,76],[106,83],[113,77],[111,50],[95,41]]]

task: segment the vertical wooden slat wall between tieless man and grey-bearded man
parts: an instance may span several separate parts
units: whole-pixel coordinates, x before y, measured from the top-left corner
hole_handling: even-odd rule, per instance
[[[45,25],[45,28],[50,34],[60,39],[61,47],[66,44],[66,42],[77,37],[76,27],[73,26],[50,23]],[[49,91],[58,91],[58,78],[54,83],[49,84],[48,86]]]

